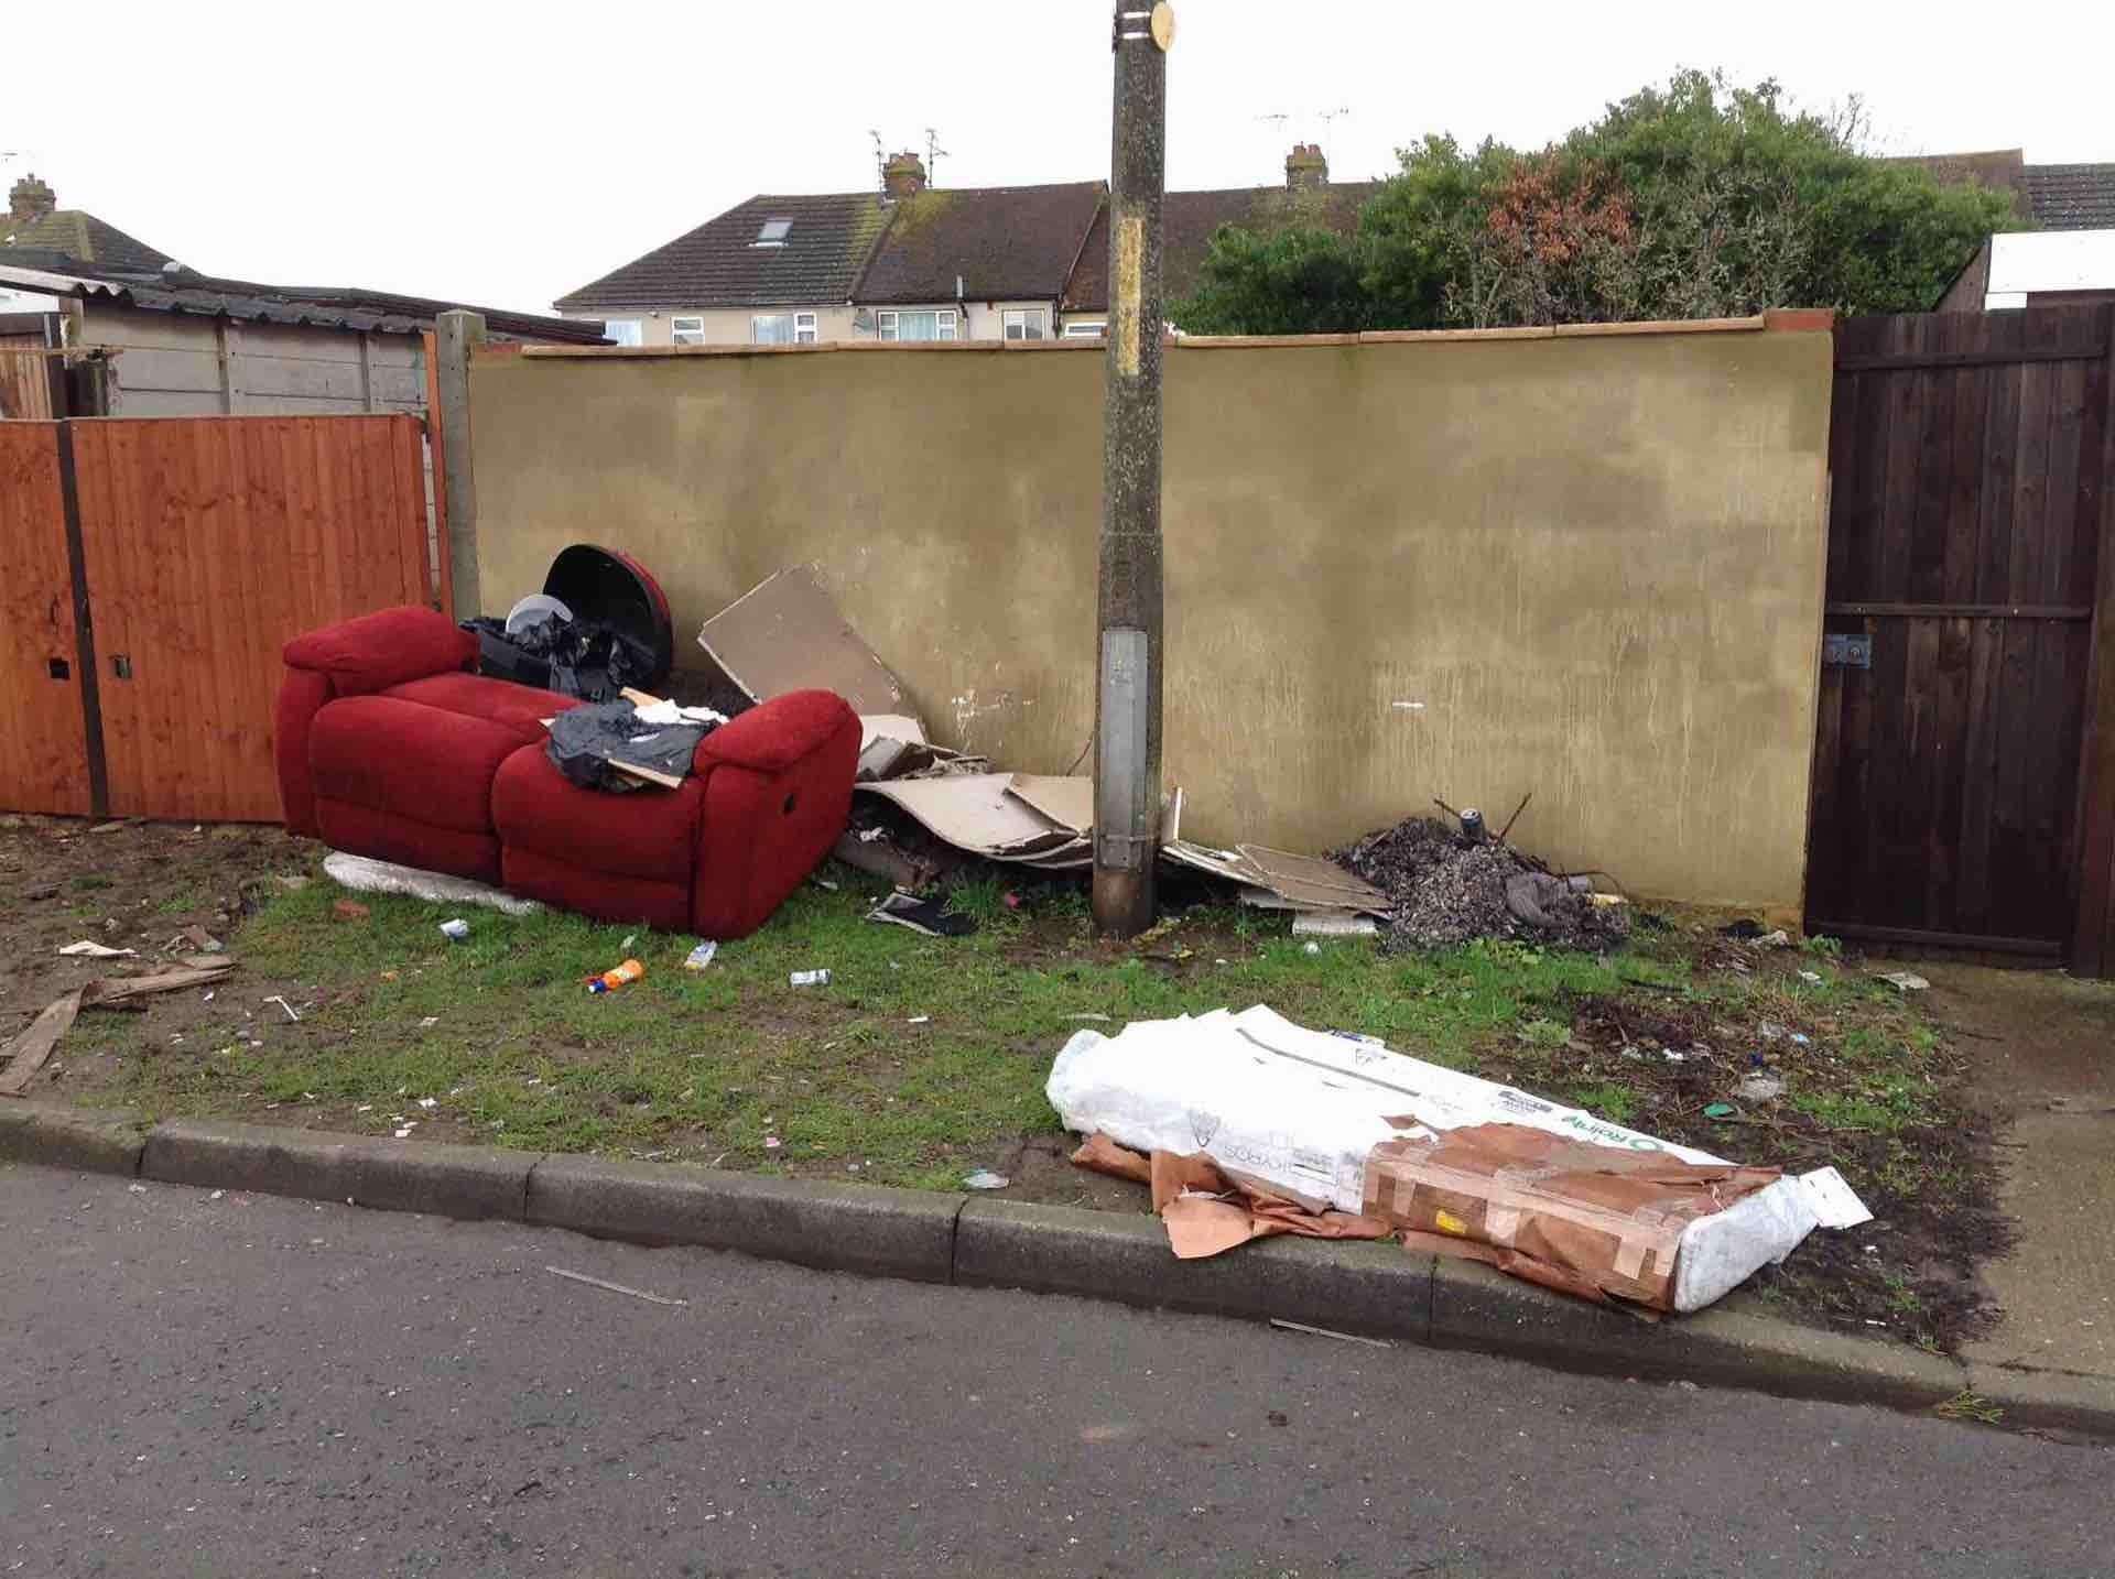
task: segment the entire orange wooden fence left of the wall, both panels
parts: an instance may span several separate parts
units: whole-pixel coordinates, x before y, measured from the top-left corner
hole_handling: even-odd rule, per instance
[[[0,807],[275,822],[279,649],[431,600],[412,416],[0,423]]]

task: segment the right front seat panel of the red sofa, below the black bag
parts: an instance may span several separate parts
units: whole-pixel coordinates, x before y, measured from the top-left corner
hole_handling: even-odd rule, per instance
[[[698,860],[704,786],[611,795],[575,784],[544,746],[522,746],[493,780],[493,826],[512,850],[533,850],[567,867],[689,890]]]

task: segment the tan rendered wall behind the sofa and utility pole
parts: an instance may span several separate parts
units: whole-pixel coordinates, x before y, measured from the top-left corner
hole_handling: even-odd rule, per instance
[[[1827,332],[1216,345],[1167,361],[1184,833],[1320,850],[1533,791],[1516,839],[1794,911]],[[472,368],[486,611],[639,556],[689,657],[814,562],[937,738],[1064,772],[1093,719],[1098,347],[505,355]]]

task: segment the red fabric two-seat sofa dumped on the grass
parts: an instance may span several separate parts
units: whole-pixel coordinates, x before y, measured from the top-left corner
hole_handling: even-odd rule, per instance
[[[286,645],[286,826],[334,850],[476,877],[605,922],[755,932],[844,831],[859,717],[795,691],[698,744],[677,791],[580,788],[544,719],[580,706],[476,674],[478,640],[385,609]]]

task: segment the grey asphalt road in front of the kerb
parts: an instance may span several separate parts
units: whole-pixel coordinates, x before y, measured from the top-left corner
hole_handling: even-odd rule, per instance
[[[6,1165],[0,1234],[0,1575],[2115,1571],[2115,1454],[1878,1410]]]

